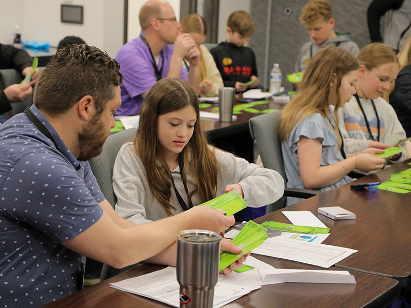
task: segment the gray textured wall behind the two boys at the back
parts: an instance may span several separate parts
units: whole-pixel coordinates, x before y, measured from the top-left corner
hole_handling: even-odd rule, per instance
[[[351,32],[353,41],[360,48],[371,43],[367,27],[367,8],[371,1],[331,0],[332,13],[335,18],[334,30]],[[308,31],[298,20],[301,9],[307,2],[308,0],[254,0],[251,2],[251,15],[256,29],[250,38],[249,46],[257,57],[258,77],[266,87],[273,63],[279,63],[283,71],[283,86],[291,89],[291,84],[285,81],[285,75],[293,72],[295,59],[301,46],[310,40]],[[292,9],[290,16],[284,13],[286,7]],[[269,28],[268,34],[267,27]]]

